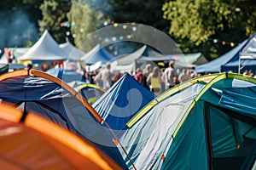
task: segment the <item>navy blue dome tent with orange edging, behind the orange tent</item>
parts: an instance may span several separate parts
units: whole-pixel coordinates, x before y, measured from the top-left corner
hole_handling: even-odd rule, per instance
[[[50,121],[70,129],[125,168],[119,150],[109,138],[92,106],[60,79],[36,70],[20,70],[0,77],[0,99],[25,113],[34,111]],[[107,131],[107,132],[106,132]]]

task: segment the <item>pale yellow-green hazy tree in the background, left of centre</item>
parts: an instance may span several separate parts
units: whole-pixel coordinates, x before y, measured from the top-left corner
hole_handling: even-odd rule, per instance
[[[67,19],[71,23],[72,35],[75,35],[74,43],[78,45],[86,36],[102,26],[103,14],[93,8],[90,3],[73,0]]]

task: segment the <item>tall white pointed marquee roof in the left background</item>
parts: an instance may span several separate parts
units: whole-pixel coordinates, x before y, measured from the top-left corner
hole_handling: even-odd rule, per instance
[[[59,47],[59,44],[46,30],[42,37],[38,39],[38,42],[20,56],[20,60],[59,60],[67,59],[67,57],[68,54]]]

